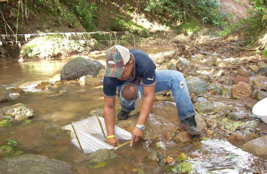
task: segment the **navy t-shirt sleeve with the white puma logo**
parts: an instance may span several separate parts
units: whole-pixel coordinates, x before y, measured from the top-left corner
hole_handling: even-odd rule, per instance
[[[156,72],[155,72],[155,64],[150,61],[150,63],[147,64],[147,67],[144,70],[143,75],[143,86],[153,86],[156,84]]]

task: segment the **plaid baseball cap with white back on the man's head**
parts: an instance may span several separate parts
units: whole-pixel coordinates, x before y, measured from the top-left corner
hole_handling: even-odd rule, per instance
[[[119,77],[123,73],[123,68],[130,60],[130,52],[127,48],[115,45],[106,54],[107,69],[106,77]]]

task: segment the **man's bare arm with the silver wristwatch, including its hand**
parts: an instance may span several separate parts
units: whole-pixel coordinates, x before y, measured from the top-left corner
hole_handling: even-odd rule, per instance
[[[144,100],[141,105],[140,114],[137,120],[137,124],[140,124],[140,125],[145,124],[145,122],[147,121],[147,117],[150,114],[150,111],[152,109],[153,102],[154,102],[155,85],[150,86],[150,87],[143,86],[143,93],[144,93]],[[139,141],[139,139],[143,135],[143,131],[140,130],[138,127],[134,127],[131,133],[132,133],[132,138],[131,138],[130,146],[132,146],[134,142]]]

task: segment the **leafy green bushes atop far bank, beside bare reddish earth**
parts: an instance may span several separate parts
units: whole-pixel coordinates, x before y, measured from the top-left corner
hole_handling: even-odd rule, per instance
[[[227,25],[226,14],[222,12],[220,1],[217,0],[149,0],[140,3],[145,11],[156,16],[169,14],[173,22],[186,20],[187,16],[195,15],[205,23],[221,28]]]

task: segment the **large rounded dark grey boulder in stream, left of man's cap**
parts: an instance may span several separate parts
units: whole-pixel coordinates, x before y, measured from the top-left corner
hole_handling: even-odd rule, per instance
[[[96,73],[100,69],[101,66],[98,62],[77,57],[62,67],[60,78],[61,80],[73,80],[85,75],[96,77]]]

